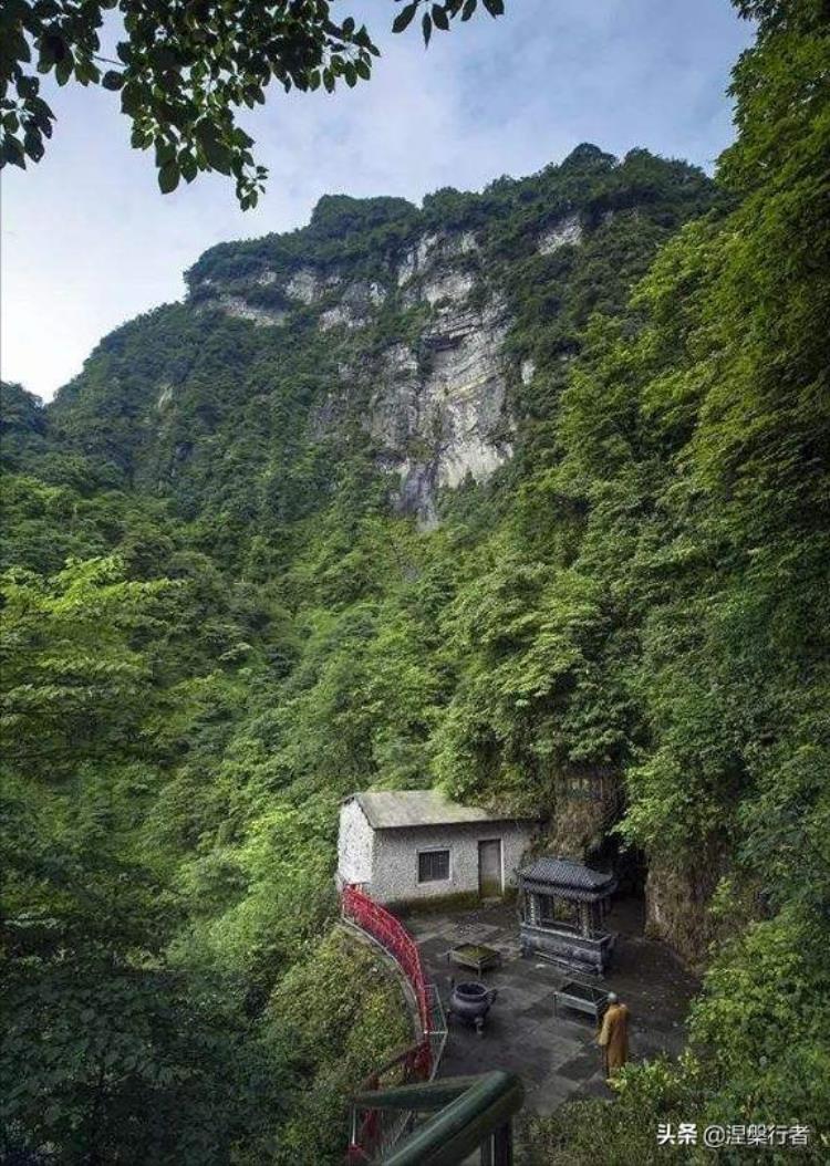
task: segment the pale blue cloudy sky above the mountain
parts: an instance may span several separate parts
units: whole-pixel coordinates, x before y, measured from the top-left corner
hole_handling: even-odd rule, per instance
[[[479,8],[481,6],[479,5]],[[182,272],[216,243],[308,222],[323,194],[479,190],[532,174],[579,142],[646,147],[711,171],[733,136],[729,72],[751,40],[729,0],[507,0],[424,51],[388,31],[391,0],[336,0],[382,51],[371,82],[335,94],[273,87],[240,124],[270,171],[253,211],[204,175],[161,195],[129,147],[118,94],[68,85],[44,160],[2,176],[2,375],[44,400],[126,319],[180,300]]]

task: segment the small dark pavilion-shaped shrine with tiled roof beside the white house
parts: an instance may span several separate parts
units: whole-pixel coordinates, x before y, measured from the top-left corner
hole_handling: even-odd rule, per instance
[[[602,976],[614,946],[603,920],[616,890],[611,873],[569,858],[537,858],[519,874],[522,951]]]

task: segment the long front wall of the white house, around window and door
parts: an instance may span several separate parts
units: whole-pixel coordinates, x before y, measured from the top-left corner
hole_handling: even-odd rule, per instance
[[[408,902],[445,894],[478,892],[478,843],[501,838],[502,884],[515,886],[516,871],[529,845],[532,826],[476,822],[374,831],[372,878],[366,887],[378,902]],[[449,850],[450,877],[418,883],[418,851]]]

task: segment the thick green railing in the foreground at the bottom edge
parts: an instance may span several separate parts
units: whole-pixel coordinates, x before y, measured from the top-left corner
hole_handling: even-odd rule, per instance
[[[514,1073],[494,1069],[358,1094],[375,1111],[431,1115],[378,1163],[384,1166],[458,1166],[479,1151],[481,1166],[512,1166],[513,1118],[525,1100]]]

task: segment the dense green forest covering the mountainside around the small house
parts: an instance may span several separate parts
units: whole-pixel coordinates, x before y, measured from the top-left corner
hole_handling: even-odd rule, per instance
[[[328,197],[52,405],[3,386],[3,1160],[338,1161],[407,1037],[332,930],[339,799],[554,823],[592,766],[706,971],[685,1058],[528,1161],[648,1161],[657,1119],[830,1131],[830,16],[738,7],[715,181],[582,146],[422,208]],[[428,236],[474,240],[470,310],[509,322],[512,456],[424,526],[365,419],[391,345],[434,359],[445,305],[395,279]],[[321,326],[358,283],[359,326]]]

